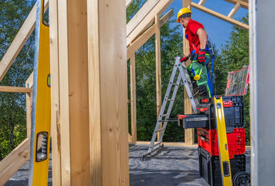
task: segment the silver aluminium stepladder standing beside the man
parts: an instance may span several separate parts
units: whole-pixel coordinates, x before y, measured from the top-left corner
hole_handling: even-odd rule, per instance
[[[177,73],[177,69],[179,69],[179,75],[177,77],[177,82],[174,83],[175,75]],[[194,111],[194,113],[197,113],[197,104],[198,104],[198,102],[197,102],[197,99],[194,99],[194,97],[192,95],[192,82],[191,82],[190,77],[188,75],[186,66],[184,65],[184,63],[181,64],[180,57],[176,57],[175,65],[174,65],[174,68],[173,68],[173,71],[172,71],[172,74],[171,74],[171,77],[170,77],[169,84],[167,86],[167,90],[166,90],[166,93],[165,93],[164,100],[162,102],[162,108],[161,108],[161,110],[159,112],[159,116],[157,118],[157,124],[155,125],[155,130],[153,132],[153,137],[151,139],[151,144],[148,148],[148,152],[142,156],[142,159],[145,159],[146,156],[150,157],[151,153],[153,151],[163,147],[162,138],[164,136],[164,132],[165,132],[167,123],[169,121],[168,119],[170,117],[170,112],[173,108],[175,97],[177,95],[177,89],[179,88],[179,84],[182,83],[181,80],[182,80],[182,82],[185,86],[186,92],[188,93],[188,97],[189,97],[189,100],[190,100],[191,105],[192,105],[192,110]],[[169,98],[172,86],[175,86],[175,87],[174,87],[172,97]],[[170,102],[170,104],[168,106],[167,112],[164,113],[164,111],[166,111],[167,102]],[[163,119],[163,117],[165,117],[165,119]],[[164,122],[164,124],[163,124],[162,128],[159,128],[159,126],[162,122]],[[159,135],[159,139],[158,139],[157,143],[155,143],[155,139],[157,137],[157,132],[160,132],[160,135]]]

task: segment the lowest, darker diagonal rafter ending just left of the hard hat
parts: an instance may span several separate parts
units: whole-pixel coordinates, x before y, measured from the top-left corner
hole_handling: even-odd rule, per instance
[[[172,16],[174,12],[173,10],[170,10],[167,12],[162,18],[159,20],[159,25],[162,27]],[[127,47],[127,59],[129,59],[133,54],[135,54],[135,51],[142,47],[146,41],[151,38],[155,34],[155,25],[152,25],[151,27],[148,28],[139,38],[133,41],[131,45]]]

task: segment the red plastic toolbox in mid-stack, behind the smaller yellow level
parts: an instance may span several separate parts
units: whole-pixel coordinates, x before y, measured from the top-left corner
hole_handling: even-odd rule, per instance
[[[197,128],[198,143],[201,148],[210,152],[211,156],[219,156],[219,146],[217,130],[208,128]],[[245,153],[245,129],[234,128],[232,133],[227,134],[228,152],[230,159],[234,159],[234,154]]]

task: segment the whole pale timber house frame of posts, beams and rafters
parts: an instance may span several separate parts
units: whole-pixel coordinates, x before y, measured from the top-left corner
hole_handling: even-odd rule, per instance
[[[128,141],[146,143],[137,141],[135,52],[155,34],[158,115],[162,106],[159,29],[174,14],[170,10],[162,16],[173,0],[148,0],[126,24],[124,13],[132,1],[110,1],[106,5],[100,0],[50,0],[53,185],[129,185]],[[224,1],[234,4],[227,16],[204,7],[206,0],[199,3],[183,0],[182,3],[184,7],[196,8],[248,30],[248,25],[232,18],[240,7],[248,9],[248,0]],[[45,0],[45,10],[48,7],[49,0]],[[36,4],[1,59],[0,81],[33,32],[35,12]],[[118,24],[107,25],[103,19]],[[115,57],[104,55],[106,50]],[[185,39],[183,51],[188,53],[188,41]],[[125,98],[128,59],[131,135],[127,135]],[[27,138],[0,162],[0,185],[29,159],[32,76],[25,87],[0,86],[2,92],[26,93],[28,128]],[[107,86],[112,87],[114,92],[108,91]],[[187,95],[184,106],[186,114],[192,113]],[[185,134],[185,143],[181,146],[196,146],[194,130],[185,130]],[[109,174],[109,178],[103,179],[104,174]]]

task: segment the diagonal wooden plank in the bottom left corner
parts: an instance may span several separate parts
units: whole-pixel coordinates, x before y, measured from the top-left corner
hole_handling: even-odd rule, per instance
[[[0,185],[4,185],[29,158],[30,138],[26,138],[0,161]]]

